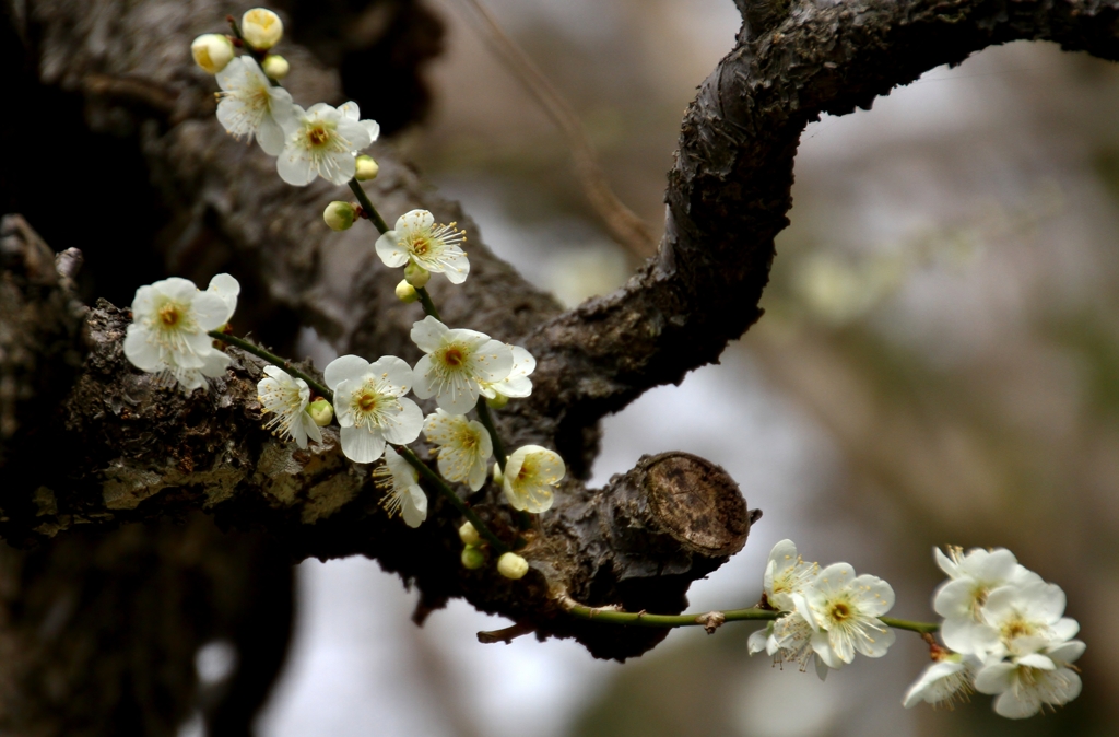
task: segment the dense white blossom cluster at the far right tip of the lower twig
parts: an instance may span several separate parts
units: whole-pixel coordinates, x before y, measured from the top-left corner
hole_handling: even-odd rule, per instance
[[[1080,631],[1064,616],[1061,587],[1026,569],[1009,550],[935,551],[948,576],[933,596],[946,647],[905,694],[903,703],[951,702],[978,691],[995,696],[995,711],[1031,717],[1080,694],[1072,665],[1084,652]]]

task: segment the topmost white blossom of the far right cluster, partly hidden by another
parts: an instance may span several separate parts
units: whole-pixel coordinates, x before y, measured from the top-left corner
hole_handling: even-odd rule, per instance
[[[950,547],[947,556],[939,549],[933,553],[949,577],[933,596],[933,609],[944,617],[940,636],[951,650],[981,660],[996,643],[980,616],[987,597],[1000,586],[1040,584],[1042,579],[1018,565],[1005,548],[976,548],[965,554],[961,548]]]

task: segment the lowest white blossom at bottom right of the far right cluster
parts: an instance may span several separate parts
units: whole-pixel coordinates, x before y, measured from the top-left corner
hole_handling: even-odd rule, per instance
[[[1044,647],[1008,661],[989,662],[976,675],[976,690],[997,694],[995,712],[1024,719],[1043,705],[1057,707],[1080,696],[1080,675],[1070,664],[1084,653],[1079,640]]]

